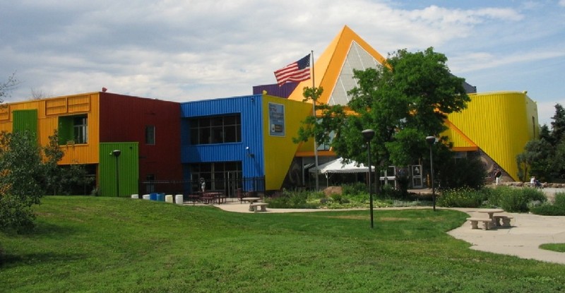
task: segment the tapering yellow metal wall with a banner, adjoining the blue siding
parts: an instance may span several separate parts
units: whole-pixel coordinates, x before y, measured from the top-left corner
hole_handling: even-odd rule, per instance
[[[268,103],[285,106],[285,136],[269,135]],[[265,154],[265,187],[267,190],[280,189],[295,157],[298,144],[292,142],[305,116],[311,115],[312,105],[292,100],[263,95],[263,137]]]

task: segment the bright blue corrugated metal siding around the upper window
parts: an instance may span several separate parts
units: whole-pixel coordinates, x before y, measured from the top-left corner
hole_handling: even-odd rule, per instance
[[[182,103],[182,163],[241,161],[244,177],[263,177],[265,167],[261,101],[262,95],[249,95]],[[237,113],[241,115],[242,122],[241,142],[190,145],[189,119]]]

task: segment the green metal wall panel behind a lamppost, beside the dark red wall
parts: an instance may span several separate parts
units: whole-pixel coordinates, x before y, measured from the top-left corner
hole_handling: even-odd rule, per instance
[[[113,150],[121,150],[117,160],[112,155]],[[116,163],[118,163],[118,174]],[[117,175],[119,175],[119,178]],[[117,196],[117,180],[119,180],[119,196],[129,197],[131,194],[138,194],[138,143],[100,143],[100,165],[98,168],[98,193],[100,196]]]

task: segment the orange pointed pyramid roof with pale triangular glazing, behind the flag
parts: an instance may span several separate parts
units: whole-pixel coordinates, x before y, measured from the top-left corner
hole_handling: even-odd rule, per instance
[[[352,54],[359,55],[359,64],[346,64],[348,54],[350,54],[352,49],[355,50]],[[362,49],[361,51],[364,52],[359,52],[359,49]],[[355,86],[355,83],[352,83],[352,77],[349,77],[348,75],[352,76],[352,69],[354,68],[359,70],[365,69],[363,66],[367,66],[367,64],[363,64],[362,62],[367,62],[367,58],[363,59],[363,57],[367,56],[370,56],[372,61],[374,61],[373,65],[376,65],[376,63],[383,64],[385,61],[384,57],[381,56],[379,52],[376,52],[376,50],[359,37],[359,35],[345,25],[340,33],[335,36],[333,41],[328,45],[326,50],[320,55],[319,59],[314,63],[314,85],[316,87],[323,88],[323,93],[318,102],[323,104],[332,104],[330,101],[332,94],[338,84],[341,86],[341,84],[338,83],[340,76],[344,79],[345,83],[349,83],[349,85],[352,86],[351,88],[338,88],[338,90],[341,92],[351,90],[353,86]],[[302,81],[298,84],[295,90],[292,91],[292,94],[290,94],[288,99],[295,101],[304,100],[302,92],[304,88],[311,86],[311,79]],[[345,105],[343,102],[337,103]]]

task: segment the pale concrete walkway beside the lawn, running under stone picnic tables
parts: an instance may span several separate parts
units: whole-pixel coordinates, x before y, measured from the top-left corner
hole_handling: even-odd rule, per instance
[[[248,203],[223,203],[215,206],[234,213],[253,213],[249,212]],[[485,217],[484,213],[477,213],[479,209],[476,208],[454,208],[454,210],[460,210],[468,213],[470,216]],[[267,208],[267,213],[312,213],[322,211],[338,210]],[[470,229],[469,223],[465,222],[461,227],[449,231],[448,234],[456,239],[467,241],[472,245],[470,248],[477,251],[565,264],[565,253],[539,248],[540,244],[565,243],[565,216],[550,217],[525,213],[504,214],[513,217],[511,221],[512,227],[492,230]]]

